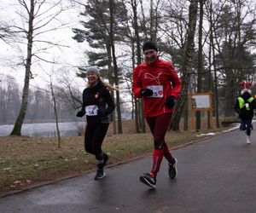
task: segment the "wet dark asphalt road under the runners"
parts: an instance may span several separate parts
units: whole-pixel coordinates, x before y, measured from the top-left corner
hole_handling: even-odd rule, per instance
[[[173,150],[177,178],[170,180],[166,160],[156,189],[139,181],[151,157],[107,168],[0,199],[1,213],[256,212],[256,130],[251,145],[235,130]]]

